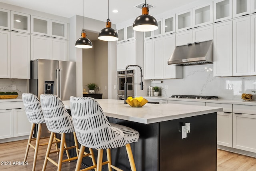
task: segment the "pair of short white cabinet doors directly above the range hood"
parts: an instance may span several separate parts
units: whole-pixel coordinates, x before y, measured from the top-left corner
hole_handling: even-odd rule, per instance
[[[176,33],[176,46],[204,42],[213,39],[213,26],[205,26]]]

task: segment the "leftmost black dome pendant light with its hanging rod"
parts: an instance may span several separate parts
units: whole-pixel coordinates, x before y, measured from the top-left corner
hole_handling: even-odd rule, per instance
[[[83,17],[84,20],[84,17]],[[92,48],[92,42],[90,41],[90,39],[86,38],[86,31],[82,30],[81,32],[81,36],[82,38],[79,38],[78,40],[76,40],[76,48],[83,48],[83,49],[89,49]]]

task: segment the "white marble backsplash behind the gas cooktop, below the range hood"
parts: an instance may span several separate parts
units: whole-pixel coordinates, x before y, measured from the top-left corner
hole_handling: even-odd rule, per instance
[[[228,89],[232,84],[232,90]],[[166,89],[166,85],[168,88]],[[256,76],[214,77],[213,64],[184,66],[183,79],[163,80],[162,96],[172,95],[212,95],[219,99],[241,99],[242,93],[251,93],[256,99]]]

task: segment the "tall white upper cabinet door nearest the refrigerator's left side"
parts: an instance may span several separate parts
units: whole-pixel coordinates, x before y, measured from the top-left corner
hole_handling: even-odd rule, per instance
[[[30,79],[30,35],[11,32],[11,78]]]

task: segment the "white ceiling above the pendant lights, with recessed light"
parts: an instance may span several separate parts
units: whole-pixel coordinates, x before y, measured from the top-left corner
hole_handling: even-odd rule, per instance
[[[197,0],[146,0],[150,8],[150,15],[157,15],[174,8],[195,2]],[[32,10],[46,12],[70,18],[74,15],[83,16],[83,0],[0,0],[6,4],[21,6]],[[144,0],[109,0],[109,19],[113,24],[136,18],[142,10],[134,6]],[[118,10],[113,13],[112,10]],[[96,20],[106,21],[108,18],[108,0],[85,0],[84,16]]]

